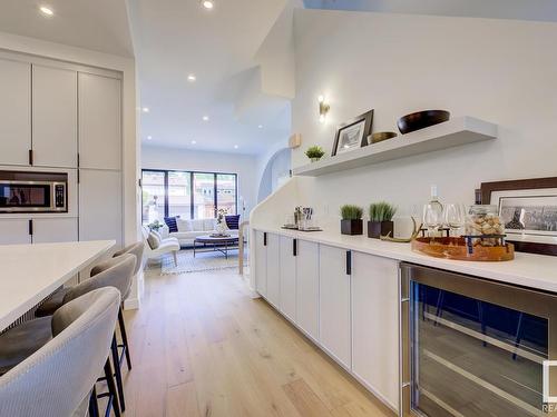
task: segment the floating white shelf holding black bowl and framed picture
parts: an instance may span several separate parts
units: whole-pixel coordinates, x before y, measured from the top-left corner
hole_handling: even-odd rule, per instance
[[[412,155],[497,138],[497,125],[473,117],[458,117],[446,122],[399,135],[379,143],[294,168],[295,176],[319,177],[325,173],[384,162]]]

